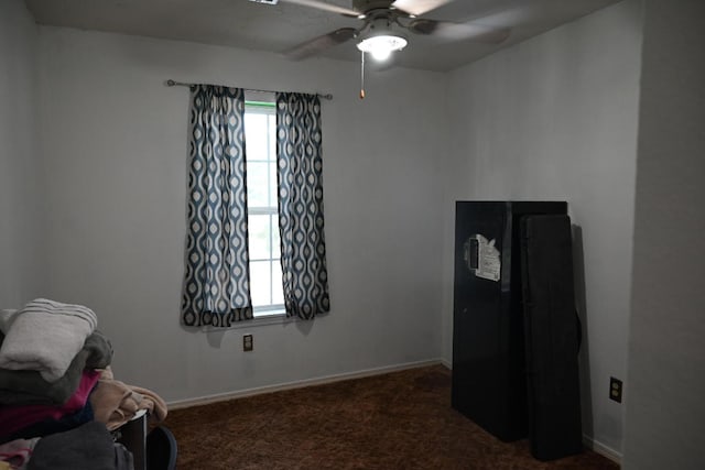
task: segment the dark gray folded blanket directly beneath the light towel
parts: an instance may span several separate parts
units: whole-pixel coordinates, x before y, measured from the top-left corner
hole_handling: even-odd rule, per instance
[[[0,347],[4,335],[0,332]],[[102,332],[95,330],[55,382],[45,381],[36,371],[0,369],[0,405],[56,404],[62,405],[80,383],[83,370],[105,369],[112,361],[112,345]]]

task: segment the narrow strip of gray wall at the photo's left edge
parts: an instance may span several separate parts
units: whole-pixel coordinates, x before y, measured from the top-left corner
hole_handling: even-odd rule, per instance
[[[0,2],[0,308],[45,292],[42,171],[36,154],[36,25]]]

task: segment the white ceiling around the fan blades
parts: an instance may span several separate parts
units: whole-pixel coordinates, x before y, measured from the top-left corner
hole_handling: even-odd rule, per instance
[[[40,24],[108,31],[142,36],[228,45],[283,53],[339,28],[359,28],[357,19],[286,3],[248,0],[25,0]],[[322,0],[351,7],[351,0]],[[619,0],[455,0],[422,18],[509,26],[499,45],[471,40],[447,41],[409,34],[410,43],[394,64],[427,70],[449,70],[502,47],[571,22]],[[321,56],[359,61],[354,41]]]

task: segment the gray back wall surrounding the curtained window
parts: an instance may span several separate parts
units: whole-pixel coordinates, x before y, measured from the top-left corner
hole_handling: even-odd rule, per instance
[[[41,28],[40,51],[48,294],[96,310],[118,378],[181,401],[440,358],[445,109],[419,90],[444,75],[390,70],[360,101],[354,63],[54,28]],[[188,90],[167,78],[334,95],[323,103],[329,315],[180,327]]]

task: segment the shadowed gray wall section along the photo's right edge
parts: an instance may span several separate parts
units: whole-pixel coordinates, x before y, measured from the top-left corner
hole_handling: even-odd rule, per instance
[[[646,2],[626,469],[705,468],[704,18]]]

